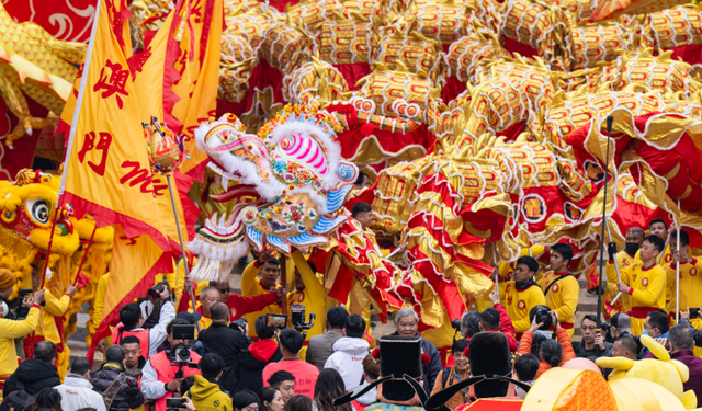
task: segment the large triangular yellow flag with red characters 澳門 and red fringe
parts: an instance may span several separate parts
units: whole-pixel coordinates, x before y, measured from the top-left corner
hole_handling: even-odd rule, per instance
[[[126,237],[149,235],[169,250],[154,196],[150,164],[138,118],[139,102],[127,60],[110,20],[112,0],[100,2],[94,38],[81,80],[82,103],[64,172],[65,203],[100,227],[121,224]]]

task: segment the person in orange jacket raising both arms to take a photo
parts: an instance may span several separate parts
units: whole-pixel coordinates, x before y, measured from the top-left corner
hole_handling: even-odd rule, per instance
[[[548,316],[544,318],[541,312],[537,312],[540,307],[544,306],[536,306],[532,309],[532,311],[534,311],[534,316],[532,318],[531,327],[526,332],[524,332],[522,340],[519,342],[519,355],[532,353],[531,343],[534,339],[534,334],[540,334],[542,336],[543,333],[551,334],[548,331],[551,323],[553,323],[556,339],[558,341],[556,342],[551,338],[539,339],[536,346],[537,354],[534,354],[539,356],[539,372],[536,373],[536,378],[546,370],[562,366],[564,363],[575,358],[573,345],[570,345],[570,338],[568,336],[568,332],[558,323],[558,315],[556,315],[555,311],[551,311],[548,312]],[[531,313],[530,317],[532,317]]]

